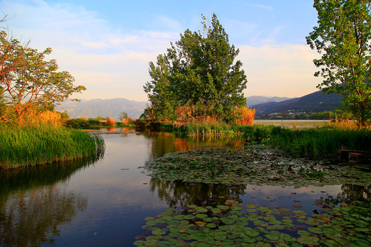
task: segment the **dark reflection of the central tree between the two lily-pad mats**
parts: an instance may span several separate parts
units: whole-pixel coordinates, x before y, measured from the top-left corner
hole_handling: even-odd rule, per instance
[[[168,207],[180,209],[188,204],[197,206],[213,206],[224,204],[228,198],[238,199],[245,191],[246,185],[207,185],[204,183],[184,183],[180,181],[163,181],[157,178],[150,180],[150,191],[157,191],[160,199],[165,200]]]

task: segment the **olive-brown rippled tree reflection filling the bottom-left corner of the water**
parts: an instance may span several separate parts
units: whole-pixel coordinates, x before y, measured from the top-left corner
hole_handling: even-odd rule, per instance
[[[0,244],[39,246],[52,244],[58,226],[71,222],[87,208],[87,198],[56,185],[29,189],[10,196],[0,204]]]

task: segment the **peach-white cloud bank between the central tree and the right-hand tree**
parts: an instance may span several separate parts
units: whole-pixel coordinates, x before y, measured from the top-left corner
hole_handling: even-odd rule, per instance
[[[321,78],[313,75],[315,57],[305,45],[240,47],[238,60],[243,62],[248,81],[245,95],[300,97],[317,91]]]

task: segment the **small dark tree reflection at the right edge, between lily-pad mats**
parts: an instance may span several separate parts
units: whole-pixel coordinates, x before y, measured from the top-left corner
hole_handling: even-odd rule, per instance
[[[369,202],[371,200],[371,185],[341,185],[341,193],[337,196],[328,196],[328,198],[320,198],[317,204],[323,208],[333,208],[341,202]]]

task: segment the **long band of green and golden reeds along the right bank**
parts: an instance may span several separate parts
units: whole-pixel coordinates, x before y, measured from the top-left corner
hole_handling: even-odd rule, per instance
[[[137,120],[136,131],[172,132],[179,137],[227,137],[245,139],[247,143],[260,143],[293,154],[335,157],[337,150],[371,151],[371,129],[360,128],[355,122],[331,123],[308,121],[301,123],[258,122],[251,125],[229,125],[223,121],[213,123],[194,121],[178,126],[151,120]],[[116,126],[120,127],[120,126]]]

